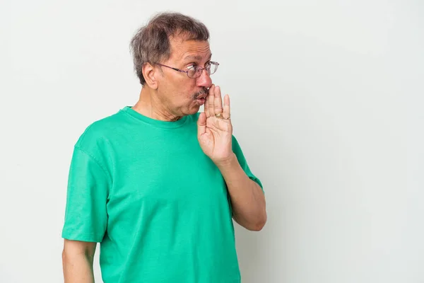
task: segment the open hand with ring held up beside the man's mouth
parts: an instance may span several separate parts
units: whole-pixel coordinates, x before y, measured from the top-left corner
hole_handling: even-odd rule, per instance
[[[197,139],[200,147],[214,163],[228,161],[233,155],[230,96],[225,95],[223,106],[220,87],[212,85],[204,108],[205,111],[200,113],[197,121]]]

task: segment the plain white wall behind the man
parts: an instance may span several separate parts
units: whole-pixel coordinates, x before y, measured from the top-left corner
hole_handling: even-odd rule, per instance
[[[265,228],[236,227],[242,282],[424,282],[418,0],[2,0],[0,282],[63,282],[73,144],[136,103],[129,40],[157,11],[208,26],[265,186]]]

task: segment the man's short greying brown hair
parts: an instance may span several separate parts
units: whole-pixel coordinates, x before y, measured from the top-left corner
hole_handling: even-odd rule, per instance
[[[181,13],[158,13],[147,25],[137,30],[131,39],[130,47],[134,70],[141,85],[146,83],[143,77],[143,65],[169,59],[170,37],[177,36],[183,36],[184,40],[208,40],[209,31],[203,23]]]

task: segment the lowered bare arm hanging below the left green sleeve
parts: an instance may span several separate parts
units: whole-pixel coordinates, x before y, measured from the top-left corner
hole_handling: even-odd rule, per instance
[[[94,283],[93,258],[96,244],[65,239],[62,252],[65,283]]]

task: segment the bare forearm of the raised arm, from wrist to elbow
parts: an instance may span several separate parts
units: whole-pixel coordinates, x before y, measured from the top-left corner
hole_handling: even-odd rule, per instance
[[[237,156],[217,164],[227,183],[235,221],[246,229],[259,231],[266,222],[266,204],[261,187],[243,171]]]

